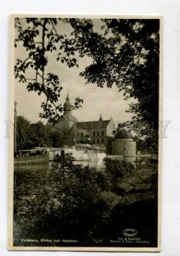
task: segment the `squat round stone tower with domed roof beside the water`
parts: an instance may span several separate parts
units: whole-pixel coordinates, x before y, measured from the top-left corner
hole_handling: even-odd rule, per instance
[[[136,156],[136,142],[131,132],[122,129],[115,133],[112,142],[112,154],[123,156]]]

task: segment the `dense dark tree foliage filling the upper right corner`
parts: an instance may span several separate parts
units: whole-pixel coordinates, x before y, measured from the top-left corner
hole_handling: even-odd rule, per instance
[[[87,83],[117,86],[125,100],[134,98],[127,122],[141,137],[154,138],[158,148],[160,20],[107,19],[96,32],[92,20],[67,20],[73,26],[76,48],[92,63],[80,73]]]

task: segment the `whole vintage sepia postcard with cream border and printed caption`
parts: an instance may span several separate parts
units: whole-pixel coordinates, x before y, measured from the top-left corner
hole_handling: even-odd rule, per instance
[[[161,41],[160,16],[11,15],[9,250],[160,251]]]

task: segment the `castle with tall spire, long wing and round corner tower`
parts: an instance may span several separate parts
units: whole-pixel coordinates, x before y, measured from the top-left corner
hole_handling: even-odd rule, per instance
[[[72,143],[90,143],[107,148],[107,154],[136,156],[136,142],[131,132],[122,129],[115,132],[113,118],[103,120],[102,114],[96,121],[78,122],[72,114],[72,105],[67,94],[64,113],[55,128],[68,131]]]

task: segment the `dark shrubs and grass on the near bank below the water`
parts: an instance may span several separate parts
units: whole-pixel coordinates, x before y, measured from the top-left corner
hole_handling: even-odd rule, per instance
[[[148,246],[156,246],[157,165],[104,164],[105,170],[97,172],[73,164],[67,155],[44,175],[16,172],[15,246],[64,246],[62,240],[67,240],[66,246],[114,247],[119,244],[110,241],[130,227]]]

